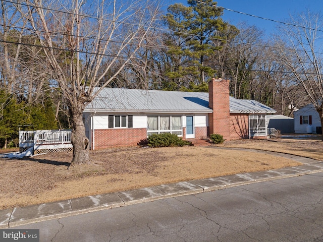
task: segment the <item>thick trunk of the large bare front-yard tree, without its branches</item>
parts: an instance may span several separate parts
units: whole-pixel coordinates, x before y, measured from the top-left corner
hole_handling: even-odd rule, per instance
[[[89,159],[89,139],[85,136],[85,126],[83,123],[82,112],[77,111],[73,113],[72,116],[72,136],[71,142],[73,145],[73,160],[71,165],[80,165],[90,163]]]

